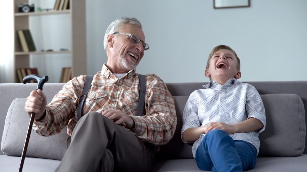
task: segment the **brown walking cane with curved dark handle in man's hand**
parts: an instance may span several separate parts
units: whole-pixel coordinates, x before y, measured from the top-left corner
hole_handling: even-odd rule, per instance
[[[48,76],[40,77],[38,75],[28,75],[28,76],[23,78],[23,83],[26,84],[30,80],[36,80],[37,81],[36,90],[38,90],[38,89],[43,90],[43,85],[45,84],[45,82],[48,81]],[[23,163],[25,161],[25,154],[26,154],[27,148],[28,148],[28,143],[29,143],[29,138],[30,138],[30,134],[31,134],[31,129],[32,129],[34,117],[35,117],[35,113],[32,113],[31,118],[30,118],[27,136],[25,138],[25,145],[23,146],[23,151],[22,151],[22,154],[21,154],[21,161],[20,161],[19,170],[18,170],[19,172],[22,171]]]

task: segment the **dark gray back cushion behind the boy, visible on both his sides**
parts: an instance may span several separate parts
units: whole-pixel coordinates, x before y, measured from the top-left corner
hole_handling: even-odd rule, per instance
[[[192,144],[181,140],[182,114],[189,96],[173,96],[177,114],[177,128],[173,139],[160,147],[156,159],[188,159]],[[301,98],[295,94],[261,95],[266,111],[266,129],[259,134],[259,157],[299,156],[305,148],[305,110]]]

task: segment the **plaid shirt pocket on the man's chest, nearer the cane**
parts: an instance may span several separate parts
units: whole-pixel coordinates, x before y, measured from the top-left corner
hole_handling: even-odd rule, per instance
[[[99,111],[107,102],[107,92],[90,92],[85,100],[83,113]]]

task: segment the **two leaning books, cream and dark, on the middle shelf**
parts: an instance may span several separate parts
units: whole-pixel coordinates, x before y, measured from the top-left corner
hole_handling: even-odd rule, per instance
[[[36,51],[31,32],[29,29],[27,30],[17,30],[17,35],[19,38],[19,42],[21,44],[21,48],[24,52]]]

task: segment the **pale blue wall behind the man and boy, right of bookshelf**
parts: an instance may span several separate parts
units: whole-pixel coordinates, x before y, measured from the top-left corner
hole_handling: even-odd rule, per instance
[[[307,80],[307,1],[251,0],[251,7],[213,9],[212,0],[87,1],[87,70],[107,62],[103,36],[122,16],[143,25],[146,51],[138,73],[165,82],[203,82],[208,54],[225,44],[241,60],[241,81]]]

